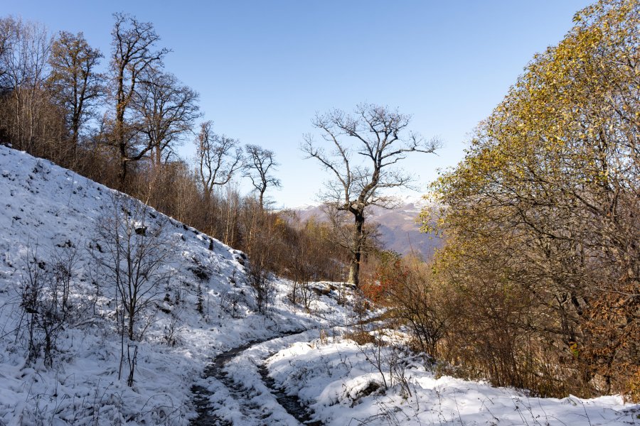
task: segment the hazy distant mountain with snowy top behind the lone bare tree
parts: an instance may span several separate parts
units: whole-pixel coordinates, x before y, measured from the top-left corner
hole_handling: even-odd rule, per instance
[[[416,222],[418,215],[427,202],[422,198],[407,197],[395,209],[370,207],[368,220],[378,224],[380,241],[387,250],[407,254],[411,251],[420,253],[425,259],[430,258],[434,249],[442,244],[441,239],[434,234],[420,232],[420,224]],[[304,206],[293,209],[301,219],[316,216],[324,217],[319,206]]]

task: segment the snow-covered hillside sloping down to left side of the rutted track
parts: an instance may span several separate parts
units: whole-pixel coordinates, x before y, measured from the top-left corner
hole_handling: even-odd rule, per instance
[[[191,385],[211,356],[316,324],[284,302],[284,281],[277,281],[269,317],[255,314],[243,253],[148,209],[145,225],[164,223],[171,244],[159,269],[171,279],[144,316],[149,328],[137,343],[133,386],[126,386],[126,362],[118,381],[114,289],[89,249],[96,246],[97,225],[113,212],[114,195],[47,160],[0,146],[0,425],[184,425],[193,416]],[[68,253],[75,253],[72,308],[53,366],[41,357],[26,364],[20,293],[28,261],[37,256],[44,271]]]

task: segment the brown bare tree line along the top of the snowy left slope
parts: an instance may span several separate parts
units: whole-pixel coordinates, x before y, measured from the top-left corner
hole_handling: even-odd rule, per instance
[[[0,143],[137,197],[270,271],[297,275],[294,251],[314,251],[304,259],[311,275],[339,279],[348,253],[326,239],[329,224],[270,209],[274,153],[198,122],[198,92],[165,69],[170,50],[153,24],[113,18],[108,58],[82,33],[0,18]],[[193,162],[177,153],[184,143],[196,148]],[[241,178],[251,194],[240,193]]]

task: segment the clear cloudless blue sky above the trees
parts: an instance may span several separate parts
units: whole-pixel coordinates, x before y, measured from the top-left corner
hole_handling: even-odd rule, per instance
[[[296,207],[314,202],[327,177],[298,149],[316,111],[372,102],[412,114],[412,129],[444,141],[439,156],[405,163],[424,190],[437,168],[462,159],[469,133],[533,54],[558,43],[590,3],[0,0],[0,11],[83,31],[105,66],[113,12],[153,22],[173,50],[166,70],[200,92],[215,131],[275,152],[282,190],[272,197]]]

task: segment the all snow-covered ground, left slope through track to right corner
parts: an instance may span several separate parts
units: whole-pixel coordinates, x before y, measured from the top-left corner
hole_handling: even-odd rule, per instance
[[[134,342],[137,366],[129,387],[127,362],[118,379],[114,289],[92,257],[104,255],[97,229],[113,216],[114,195],[0,146],[0,426],[188,425],[196,417],[193,385],[206,389],[215,415],[234,425],[298,425],[260,378],[267,358],[275,383],[299,395],[328,425],[640,424],[639,406],[623,405],[616,396],[526,398],[486,383],[436,379],[405,354],[400,359],[408,386],[396,380],[384,391],[382,376],[366,361],[375,353],[341,337],[353,318],[338,305],[335,286],[314,284],[322,295],[309,314],[287,300],[287,280],[274,278],[269,315],[259,315],[245,256],[153,209],[144,210],[144,226],[153,231],[164,224],[171,251],[157,273],[169,282],[141,313],[148,328]],[[29,271],[52,271],[56,259],[70,255],[70,313],[52,366],[42,356],[28,363],[29,313],[21,307],[26,278]],[[297,334],[284,336],[288,332]],[[254,341],[265,342],[224,366],[232,388],[201,377],[215,356]]]

